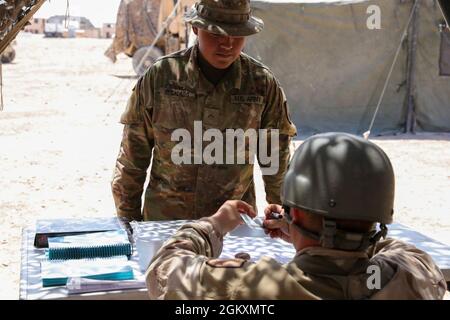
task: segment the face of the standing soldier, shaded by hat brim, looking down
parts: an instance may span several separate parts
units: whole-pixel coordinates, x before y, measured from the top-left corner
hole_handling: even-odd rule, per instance
[[[228,68],[240,55],[245,37],[231,37],[193,28],[202,56],[217,69]]]

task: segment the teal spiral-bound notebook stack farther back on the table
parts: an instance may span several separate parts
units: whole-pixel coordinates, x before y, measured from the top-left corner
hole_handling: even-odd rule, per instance
[[[131,256],[132,246],[123,229],[48,238],[48,259],[69,260]]]

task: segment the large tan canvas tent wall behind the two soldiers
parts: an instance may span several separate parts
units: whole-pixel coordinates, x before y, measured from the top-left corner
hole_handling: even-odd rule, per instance
[[[265,28],[248,38],[245,51],[280,80],[300,135],[361,134],[369,127],[413,2],[319,2],[252,1]],[[440,36],[433,2],[422,5],[419,15],[417,56],[425,58],[417,59],[417,74],[423,73],[416,76],[417,129],[450,131],[450,79],[439,76]],[[367,27],[367,9],[374,4],[381,9],[380,30]],[[405,41],[372,133],[400,132],[405,126],[407,60]]]

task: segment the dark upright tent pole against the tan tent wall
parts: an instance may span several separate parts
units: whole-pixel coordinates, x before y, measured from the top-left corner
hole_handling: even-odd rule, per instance
[[[416,55],[417,55],[417,34],[419,31],[419,10],[420,0],[417,0],[417,6],[414,9],[414,17],[411,26],[409,27],[408,36],[408,66],[406,77],[406,124],[405,133],[415,133],[416,131],[416,114],[415,114],[415,76],[416,76]]]

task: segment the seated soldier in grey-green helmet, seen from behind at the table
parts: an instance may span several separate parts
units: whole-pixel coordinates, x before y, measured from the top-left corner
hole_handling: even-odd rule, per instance
[[[345,133],[313,136],[296,150],[284,178],[283,208],[266,208],[272,237],[297,254],[281,265],[217,259],[243,201],[184,225],[153,258],[146,281],[154,299],[442,299],[446,283],[431,257],[381,239],[392,222],[394,172],[377,145]],[[269,219],[272,212],[283,219]],[[377,228],[376,224],[379,223]]]

